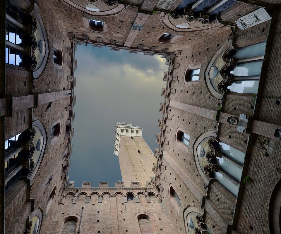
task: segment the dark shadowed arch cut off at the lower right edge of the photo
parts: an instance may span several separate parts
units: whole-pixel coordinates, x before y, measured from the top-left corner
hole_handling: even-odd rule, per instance
[[[281,179],[275,185],[269,201],[268,224],[271,234],[281,233]]]

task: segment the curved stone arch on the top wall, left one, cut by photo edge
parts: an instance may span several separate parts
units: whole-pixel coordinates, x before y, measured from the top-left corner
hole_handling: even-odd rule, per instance
[[[78,11],[82,11],[83,13],[86,13],[90,16],[112,16],[121,13],[122,11],[125,10],[125,7],[123,4],[116,4],[116,7],[113,9],[109,9],[108,11],[99,11],[99,12],[94,12],[94,11],[89,11],[86,8],[83,8],[79,6],[78,4],[74,3],[71,0],[64,0],[64,3],[67,5],[72,6]]]

